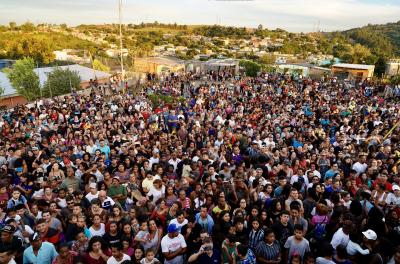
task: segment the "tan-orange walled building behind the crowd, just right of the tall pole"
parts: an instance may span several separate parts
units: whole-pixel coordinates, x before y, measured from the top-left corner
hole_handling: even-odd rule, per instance
[[[185,70],[183,60],[173,57],[136,58],[135,72],[162,74],[165,72],[180,72]]]

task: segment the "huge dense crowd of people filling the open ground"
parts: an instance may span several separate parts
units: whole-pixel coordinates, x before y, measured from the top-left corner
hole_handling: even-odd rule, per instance
[[[399,264],[400,105],[366,87],[149,75],[9,109],[0,264]]]

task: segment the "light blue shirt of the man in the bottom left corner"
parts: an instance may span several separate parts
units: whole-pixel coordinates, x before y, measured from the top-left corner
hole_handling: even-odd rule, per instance
[[[32,246],[24,251],[24,264],[51,264],[58,256],[58,253],[53,244],[42,242],[37,256],[33,253]]]

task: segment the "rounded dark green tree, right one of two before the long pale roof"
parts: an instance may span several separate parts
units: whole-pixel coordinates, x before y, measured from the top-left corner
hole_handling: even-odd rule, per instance
[[[81,78],[79,75],[67,69],[55,68],[47,78],[43,86],[43,94],[45,96],[57,96],[71,92],[73,88],[79,88]]]

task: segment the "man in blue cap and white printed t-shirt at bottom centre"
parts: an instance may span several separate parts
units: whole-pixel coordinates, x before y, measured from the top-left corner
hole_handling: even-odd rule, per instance
[[[186,241],[175,224],[168,226],[168,234],[161,240],[161,250],[165,257],[164,264],[183,264],[186,253]]]

